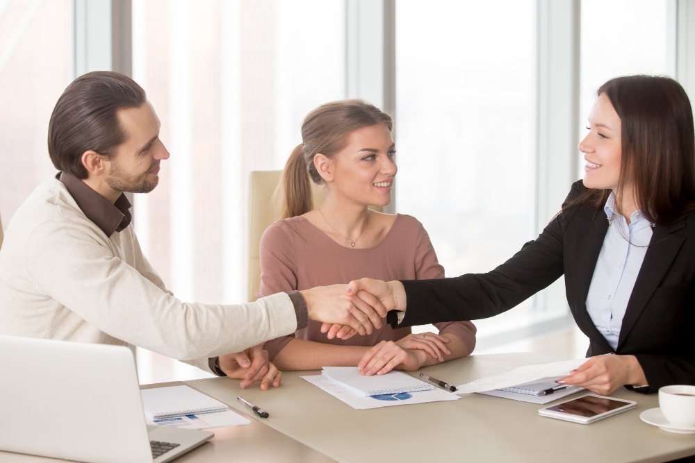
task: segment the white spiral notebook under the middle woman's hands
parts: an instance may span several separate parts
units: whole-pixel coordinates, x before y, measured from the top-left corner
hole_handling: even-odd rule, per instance
[[[434,386],[400,371],[385,375],[363,376],[357,367],[323,367],[321,372],[329,380],[340,383],[361,396],[380,396],[401,392],[431,391]]]

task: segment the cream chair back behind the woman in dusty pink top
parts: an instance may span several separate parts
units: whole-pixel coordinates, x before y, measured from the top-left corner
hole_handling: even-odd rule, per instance
[[[280,218],[283,201],[280,177],[282,171],[251,171],[249,178],[249,301],[256,300],[256,291],[261,287],[261,236],[270,224]],[[311,182],[313,207],[320,206],[325,190]],[[382,207],[371,209],[383,212]]]

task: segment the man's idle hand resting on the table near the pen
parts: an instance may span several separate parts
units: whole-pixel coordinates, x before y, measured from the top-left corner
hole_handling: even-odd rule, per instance
[[[261,389],[268,390],[268,387],[279,387],[282,372],[268,361],[268,351],[263,346],[253,346],[243,352],[236,352],[220,355],[220,369],[229,378],[240,379],[241,389],[261,380]]]

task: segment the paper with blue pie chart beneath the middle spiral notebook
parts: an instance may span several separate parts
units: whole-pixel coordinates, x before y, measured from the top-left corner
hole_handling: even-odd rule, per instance
[[[369,408],[393,407],[393,405],[409,405],[413,403],[455,401],[459,398],[456,394],[444,391],[443,389],[432,389],[431,391],[401,392],[399,394],[386,394],[383,396],[362,396],[350,391],[347,387],[329,380],[325,376],[311,375],[301,376],[306,381],[316,387],[320,387],[328,394],[341,400],[356,410],[366,410]]]

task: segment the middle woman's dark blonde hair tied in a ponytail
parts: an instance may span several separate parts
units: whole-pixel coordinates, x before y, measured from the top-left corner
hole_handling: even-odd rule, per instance
[[[282,173],[282,217],[302,215],[313,209],[309,177],[318,185],[323,183],[313,165],[315,155],[332,158],[345,147],[351,133],[377,124],[393,130],[391,116],[361,100],[333,101],[309,112],[302,123],[302,144],[292,151]]]

